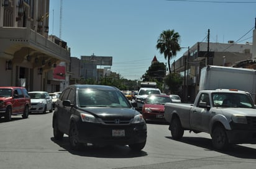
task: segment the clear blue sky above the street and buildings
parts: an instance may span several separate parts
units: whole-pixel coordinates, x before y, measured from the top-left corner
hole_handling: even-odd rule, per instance
[[[256,1],[63,0],[62,40],[71,56],[112,56],[111,71],[139,80],[163,30],[178,32],[181,47],[206,41],[237,41],[255,25]],[[49,35],[60,35],[60,0],[50,0]],[[252,31],[239,43],[252,42]],[[180,58],[187,49],[177,53]]]

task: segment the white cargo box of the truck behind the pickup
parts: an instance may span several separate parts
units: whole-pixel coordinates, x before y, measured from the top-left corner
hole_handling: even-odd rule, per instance
[[[256,70],[206,66],[201,69],[199,90],[238,89],[249,92],[254,98],[256,90]]]

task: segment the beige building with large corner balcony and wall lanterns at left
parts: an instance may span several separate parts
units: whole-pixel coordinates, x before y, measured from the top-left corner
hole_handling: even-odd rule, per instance
[[[0,86],[63,90],[69,82],[70,48],[48,36],[49,0],[0,3]],[[56,67],[65,71],[55,75]]]

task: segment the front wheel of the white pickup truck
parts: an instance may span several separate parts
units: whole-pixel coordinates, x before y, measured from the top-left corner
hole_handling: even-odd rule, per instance
[[[213,129],[212,142],[213,147],[217,150],[226,149],[229,145],[227,134],[222,126],[216,126]]]

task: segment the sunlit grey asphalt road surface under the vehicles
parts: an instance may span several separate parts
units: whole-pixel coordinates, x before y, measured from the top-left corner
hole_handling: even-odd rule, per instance
[[[173,141],[167,124],[148,123],[147,144],[141,152],[126,146],[70,150],[68,137],[55,141],[52,113],[28,119],[0,119],[0,169],[8,168],[254,168],[256,145],[235,145],[224,152],[213,150],[209,134],[185,132]]]

